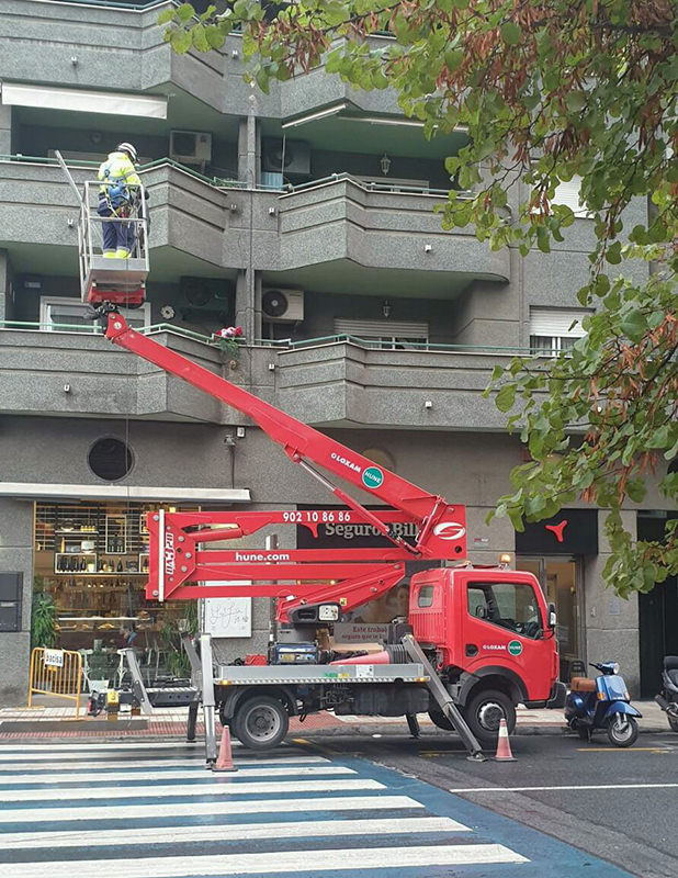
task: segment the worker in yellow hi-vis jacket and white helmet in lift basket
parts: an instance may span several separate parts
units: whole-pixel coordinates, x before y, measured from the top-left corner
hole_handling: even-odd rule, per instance
[[[103,223],[103,255],[106,259],[128,259],[134,247],[134,223],[120,222],[139,212],[138,187],[142,180],[136,172],[136,149],[122,143],[99,168],[99,216],[110,216],[118,222]]]

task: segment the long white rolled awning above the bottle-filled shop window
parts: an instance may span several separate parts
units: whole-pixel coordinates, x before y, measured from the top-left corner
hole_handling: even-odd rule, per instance
[[[0,497],[54,500],[129,500],[135,503],[249,503],[249,488],[152,487],[140,485],[72,485],[0,482]]]

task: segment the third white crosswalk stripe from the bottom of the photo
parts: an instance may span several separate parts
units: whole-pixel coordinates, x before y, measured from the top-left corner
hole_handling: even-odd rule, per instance
[[[3,823],[43,823],[55,820],[134,820],[138,818],[196,817],[203,814],[265,814],[289,813],[303,808],[305,813],[314,811],[374,811],[399,808],[423,808],[409,796],[338,796],[317,799],[252,799],[251,801],[217,802],[149,802],[148,804],[83,806],[82,808],[19,808],[0,809],[0,825]],[[122,830],[124,833],[125,831]],[[7,878],[3,874],[2,878]]]

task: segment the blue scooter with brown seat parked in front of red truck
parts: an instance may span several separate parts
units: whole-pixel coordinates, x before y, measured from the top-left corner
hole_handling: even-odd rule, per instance
[[[639,736],[635,718],[642,713],[631,705],[619,665],[617,662],[589,664],[600,671],[600,676],[596,679],[573,677],[565,702],[565,720],[583,741],[604,730],[611,744],[630,747]]]

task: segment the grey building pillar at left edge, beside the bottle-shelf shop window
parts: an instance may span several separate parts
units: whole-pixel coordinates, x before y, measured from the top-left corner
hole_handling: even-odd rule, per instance
[[[0,572],[23,573],[21,630],[0,631],[0,706],[20,707],[29,696],[33,599],[33,504],[0,499]]]

